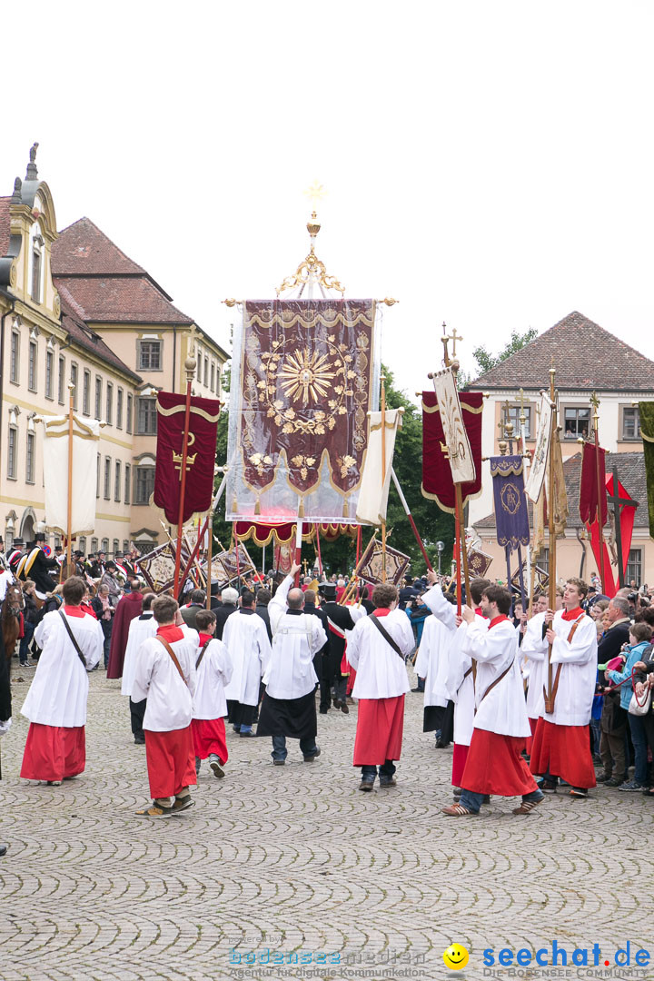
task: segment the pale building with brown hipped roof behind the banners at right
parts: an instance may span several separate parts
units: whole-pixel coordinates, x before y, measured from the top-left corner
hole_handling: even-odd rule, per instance
[[[499,455],[501,421],[507,416],[520,434],[521,399],[526,416],[527,448],[533,449],[536,436],[536,408],[542,389],[549,389],[549,371],[555,369],[559,402],[559,426],[564,471],[568,486],[570,520],[565,540],[557,546],[557,576],[579,576],[581,560],[586,574],[596,571],[585,531],[579,521],[580,439],[593,438],[593,407],[590,395],[596,392],[599,404],[599,439],[611,454],[607,468],[614,465],[619,479],[634,499],[636,510],[629,571],[639,582],[654,581],[654,542],[649,538],[647,498],[643,496],[644,465],[638,419],[638,401],[654,398],[654,362],[609,334],[578,312],[570,314],[544,334],[469,386],[487,393],[483,409],[482,456]],[[521,392],[522,389],[522,392]],[[478,532],[483,550],[494,557],[491,574],[504,577],[503,549],[495,542],[493,490],[490,465],[485,460],[480,495],[470,503],[468,524]],[[642,468],[642,480],[637,477]],[[623,480],[623,471],[627,478]],[[608,535],[608,530],[605,531]],[[548,566],[546,549],[541,565]],[[514,557],[514,567],[517,559]],[[636,575],[637,573],[637,575]]]

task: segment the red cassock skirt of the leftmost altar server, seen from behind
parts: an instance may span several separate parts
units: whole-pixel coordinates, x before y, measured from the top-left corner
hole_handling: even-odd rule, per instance
[[[30,722],[21,776],[25,780],[64,780],[86,765],[83,726],[44,726]]]

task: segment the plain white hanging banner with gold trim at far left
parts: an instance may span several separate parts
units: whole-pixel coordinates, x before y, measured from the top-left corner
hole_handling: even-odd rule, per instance
[[[68,534],[68,416],[43,419],[43,483],[48,528]],[[73,528],[71,537],[95,528],[97,451],[100,426],[73,416]]]

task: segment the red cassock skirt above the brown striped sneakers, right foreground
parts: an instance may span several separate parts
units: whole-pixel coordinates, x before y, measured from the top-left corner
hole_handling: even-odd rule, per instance
[[[523,797],[536,789],[528,765],[521,755],[524,736],[475,729],[468,751],[461,787],[475,794]]]

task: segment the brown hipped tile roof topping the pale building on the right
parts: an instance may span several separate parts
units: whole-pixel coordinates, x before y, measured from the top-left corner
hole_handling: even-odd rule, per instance
[[[654,362],[575,311],[471,383],[472,388],[546,387],[552,359],[556,387],[642,391]]]

